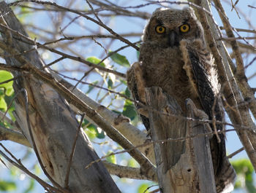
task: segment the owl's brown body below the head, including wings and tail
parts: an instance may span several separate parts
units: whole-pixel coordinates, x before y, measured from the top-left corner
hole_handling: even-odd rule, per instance
[[[179,47],[161,47],[156,42],[145,42],[140,47],[140,62],[139,75],[132,68],[127,74],[127,84],[135,100],[143,98],[142,102],[145,103],[145,93],[141,94],[144,92],[143,87],[157,86],[167,95],[176,98],[185,113],[185,100],[191,98],[198,109],[203,109],[208,114],[210,120],[215,117],[217,121],[223,121],[218,99],[217,72],[211,54],[207,52],[202,40],[182,40]],[[142,120],[148,130],[148,118],[142,116]],[[223,130],[222,127],[217,124],[217,130]],[[236,173],[226,157],[225,135],[219,133],[219,138],[220,143],[214,135],[210,145],[217,192],[222,192],[233,183]]]

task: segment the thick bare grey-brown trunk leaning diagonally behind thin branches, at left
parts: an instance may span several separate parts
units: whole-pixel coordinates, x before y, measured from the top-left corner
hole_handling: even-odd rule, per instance
[[[19,31],[20,34],[26,35],[22,25],[6,3],[0,3],[0,10],[4,23],[7,23],[15,31]],[[15,39],[15,36],[11,36],[11,42],[10,38],[8,39],[8,34],[2,33],[1,36],[8,47],[7,50],[4,50],[8,65],[25,65],[16,60],[19,57],[18,55],[13,54],[13,50],[18,50],[34,66],[38,68],[43,66],[36,50],[24,52],[32,49],[29,44],[20,42]],[[42,167],[45,168],[48,176],[53,181],[64,187],[68,160],[72,153],[72,144],[79,126],[75,114],[69,109],[69,105],[64,98],[45,82],[36,79],[31,74],[24,76],[25,74],[17,71],[13,71],[13,74],[15,76],[21,75],[15,81],[15,92],[18,92],[21,88],[25,88],[28,92],[31,131],[39,153],[39,159],[42,160]],[[15,100],[15,107],[15,117],[18,125],[31,142],[24,109],[24,95],[18,95]],[[99,159],[99,157],[91,146],[89,138],[80,130],[69,173],[68,189],[71,192],[120,192],[102,162],[96,162],[86,169],[86,165],[96,159]],[[53,183],[53,185],[56,184]]]

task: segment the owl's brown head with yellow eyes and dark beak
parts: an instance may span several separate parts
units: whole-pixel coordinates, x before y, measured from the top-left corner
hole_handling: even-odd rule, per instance
[[[143,42],[175,47],[181,39],[203,39],[203,28],[191,8],[157,9],[143,33]]]

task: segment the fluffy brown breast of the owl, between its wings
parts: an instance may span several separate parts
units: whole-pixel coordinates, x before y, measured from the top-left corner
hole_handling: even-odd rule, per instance
[[[161,47],[154,42],[146,42],[140,47],[140,61],[144,71],[146,87],[161,87],[168,95],[178,101],[185,112],[185,100],[191,98],[202,109],[197,90],[189,82],[184,71],[184,59],[178,47]]]

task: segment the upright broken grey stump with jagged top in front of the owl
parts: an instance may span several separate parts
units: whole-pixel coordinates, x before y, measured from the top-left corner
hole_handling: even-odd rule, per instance
[[[205,127],[187,122],[176,100],[159,87],[147,88],[146,100],[160,191],[216,193],[208,137],[198,135]]]

